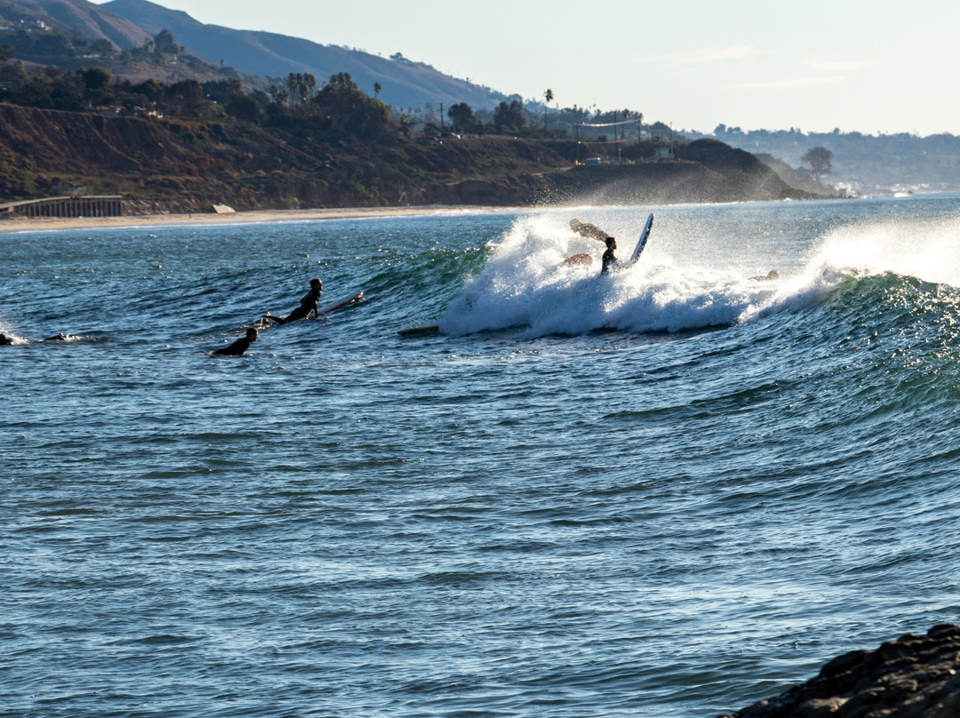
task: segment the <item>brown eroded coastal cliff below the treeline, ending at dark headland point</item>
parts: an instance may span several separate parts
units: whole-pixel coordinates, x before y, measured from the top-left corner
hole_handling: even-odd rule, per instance
[[[564,146],[537,140],[483,137],[437,145],[396,138],[319,147],[231,121],[0,104],[0,201],[48,196],[60,179],[84,182],[91,193],[123,194],[133,212],[199,212],[213,203],[236,209],[522,206],[809,196],[756,157],[718,142],[695,142],[669,162],[569,164]]]

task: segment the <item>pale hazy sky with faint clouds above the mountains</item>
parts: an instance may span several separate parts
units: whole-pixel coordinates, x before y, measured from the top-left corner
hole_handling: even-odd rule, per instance
[[[153,1],[676,129],[960,134],[956,0]]]

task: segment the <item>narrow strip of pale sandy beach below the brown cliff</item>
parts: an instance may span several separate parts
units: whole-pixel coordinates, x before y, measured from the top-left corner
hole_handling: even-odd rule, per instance
[[[48,231],[84,227],[142,227],[150,225],[221,225],[256,222],[310,222],[434,214],[513,212],[518,207],[431,204],[411,207],[342,207],[333,209],[262,209],[226,214],[132,214],[121,217],[32,217],[0,221],[0,232]]]

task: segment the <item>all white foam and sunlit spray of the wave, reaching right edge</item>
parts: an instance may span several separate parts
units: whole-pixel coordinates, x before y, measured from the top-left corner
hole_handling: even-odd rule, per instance
[[[800,227],[786,239],[660,223],[635,267],[601,275],[604,246],[573,235],[570,216],[566,211],[519,217],[487,266],[451,303],[441,329],[468,334],[522,327],[530,336],[595,329],[675,332],[800,310],[825,300],[851,275],[893,272],[960,286],[955,217],[875,219],[834,227],[822,237],[804,236]],[[600,224],[626,237],[638,217],[612,214]],[[632,240],[620,240],[620,257],[632,251]],[[591,265],[564,264],[565,257],[581,252],[593,256]],[[779,280],[751,278],[784,260]]]

